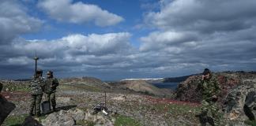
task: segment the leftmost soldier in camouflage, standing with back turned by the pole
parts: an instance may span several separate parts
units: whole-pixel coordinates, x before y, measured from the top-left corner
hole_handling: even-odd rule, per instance
[[[42,70],[37,70],[36,75],[34,76],[33,80],[30,82],[30,87],[31,87],[31,103],[29,106],[29,115],[33,115],[33,110],[36,107],[36,117],[40,117],[40,103],[42,100],[42,95],[43,95],[43,87],[45,85],[45,82],[43,80],[43,71]]]

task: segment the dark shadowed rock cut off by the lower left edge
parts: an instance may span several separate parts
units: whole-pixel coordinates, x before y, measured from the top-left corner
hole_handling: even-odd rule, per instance
[[[0,125],[15,107],[16,106],[12,102],[8,102],[5,97],[0,95]]]

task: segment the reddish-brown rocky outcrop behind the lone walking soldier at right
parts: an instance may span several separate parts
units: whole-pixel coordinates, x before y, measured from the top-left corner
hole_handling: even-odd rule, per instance
[[[247,120],[255,120],[256,114],[256,73],[255,72],[218,72],[214,73],[220,83],[218,98],[220,109],[228,124],[246,125]],[[200,102],[201,91],[197,89],[201,76],[190,76],[179,83],[175,98],[186,102]]]

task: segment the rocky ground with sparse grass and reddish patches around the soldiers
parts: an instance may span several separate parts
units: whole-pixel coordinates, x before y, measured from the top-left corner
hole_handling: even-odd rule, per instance
[[[220,113],[224,115],[222,122],[253,124],[256,74],[219,72],[215,75],[222,88],[218,100]],[[188,77],[179,83],[177,91],[159,89],[145,80],[104,83],[91,77],[62,79],[56,94],[58,112],[38,120],[43,125],[200,125],[195,117],[201,106],[200,89],[197,89],[200,79],[197,75]],[[16,105],[2,125],[22,124],[28,116],[28,81],[2,83],[2,96]],[[105,92],[110,114],[93,115],[92,108],[105,102]]]

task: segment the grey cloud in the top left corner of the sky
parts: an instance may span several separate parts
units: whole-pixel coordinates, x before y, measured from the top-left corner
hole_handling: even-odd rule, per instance
[[[17,1],[0,2],[0,44],[10,43],[18,35],[39,31],[43,21],[30,17]]]

